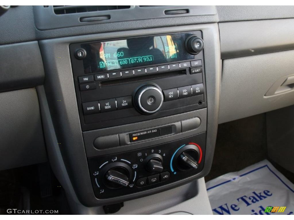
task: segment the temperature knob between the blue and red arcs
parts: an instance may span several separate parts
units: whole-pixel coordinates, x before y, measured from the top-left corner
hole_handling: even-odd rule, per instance
[[[188,144],[178,150],[173,163],[178,170],[197,169],[199,157],[199,148],[196,145]]]

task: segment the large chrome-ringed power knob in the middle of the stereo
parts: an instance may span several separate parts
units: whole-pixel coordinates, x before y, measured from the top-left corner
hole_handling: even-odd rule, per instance
[[[153,85],[142,86],[135,95],[135,106],[143,114],[152,114],[158,111],[163,103],[161,89]]]

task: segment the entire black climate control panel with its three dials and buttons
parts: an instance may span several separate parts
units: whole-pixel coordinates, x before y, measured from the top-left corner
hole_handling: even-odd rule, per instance
[[[123,153],[88,158],[95,196],[118,197],[167,185],[203,169],[206,132]]]

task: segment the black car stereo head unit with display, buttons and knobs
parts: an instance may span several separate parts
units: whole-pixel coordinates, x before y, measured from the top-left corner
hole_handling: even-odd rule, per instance
[[[206,107],[201,31],[70,45],[83,131]]]

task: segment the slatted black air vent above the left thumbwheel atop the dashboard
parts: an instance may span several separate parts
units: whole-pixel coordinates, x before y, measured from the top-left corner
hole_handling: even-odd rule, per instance
[[[129,9],[130,5],[101,5],[101,6],[74,6],[74,5],[54,5],[55,14],[73,14],[91,11],[109,11],[118,9]]]

